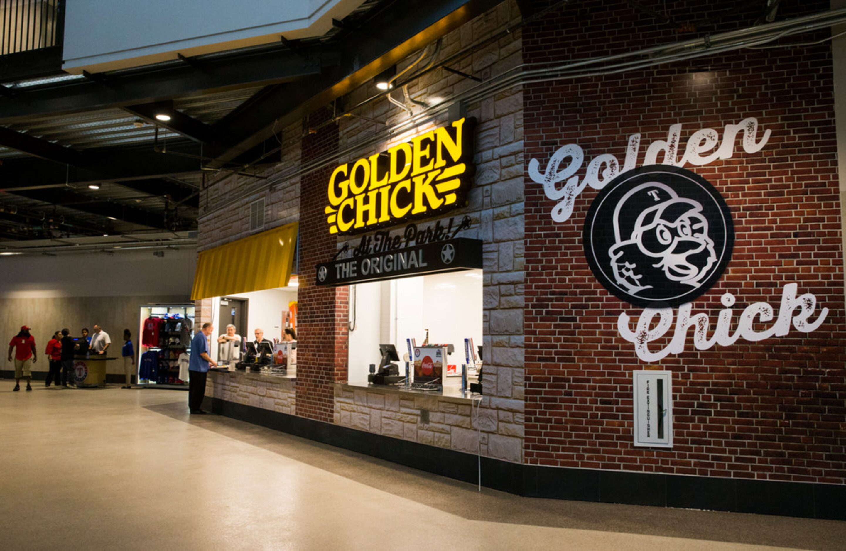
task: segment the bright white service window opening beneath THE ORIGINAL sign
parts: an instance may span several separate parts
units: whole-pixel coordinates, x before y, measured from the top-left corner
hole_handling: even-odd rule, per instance
[[[393,344],[400,373],[408,361],[406,339],[422,345],[453,344],[447,364],[461,372],[464,339],[482,343],[482,271],[462,270],[349,286],[349,383],[366,383],[380,345]],[[446,384],[460,386],[460,377]]]

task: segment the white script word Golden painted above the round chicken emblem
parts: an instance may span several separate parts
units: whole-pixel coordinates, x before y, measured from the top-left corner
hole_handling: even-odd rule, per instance
[[[748,117],[738,124],[726,124],[720,142],[720,133],[716,129],[703,128],[696,130],[688,138],[684,147],[684,154],[678,158],[681,124],[672,124],[667,131],[667,140],[653,141],[646,149],[643,166],[658,164],[658,156],[663,154],[663,165],[684,167],[691,164],[697,167],[705,166],[717,160],[731,158],[734,154],[734,141],[743,133],[741,143],[744,152],[756,153],[766,146],[770,139],[770,130],[766,130],[758,139],[758,119]],[[543,185],[544,194],[552,201],[558,201],[552,208],[552,220],[565,222],[573,214],[575,200],[585,187],[591,186],[595,190],[602,190],[618,174],[635,168],[640,153],[640,134],[629,136],[626,146],[626,158],[620,167],[617,157],[610,153],[597,155],[588,164],[584,176],[577,173],[585,163],[585,150],[577,144],[567,144],[552,154],[547,162],[547,168],[541,173],[541,163],[537,159],[529,161],[529,177],[537,184]],[[569,161],[564,163],[567,159]],[[564,184],[559,187],[559,184]]]

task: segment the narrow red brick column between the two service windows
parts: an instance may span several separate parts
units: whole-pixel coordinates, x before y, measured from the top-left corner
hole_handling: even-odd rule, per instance
[[[305,121],[304,164],[338,149],[338,125],[330,116],[323,110]],[[325,422],[334,418],[334,383],[347,380],[347,288],[316,287],[314,271],[317,264],[332,260],[336,251],[337,240],[329,234],[323,213],[332,168],[329,163],[304,174],[299,196],[296,413]]]

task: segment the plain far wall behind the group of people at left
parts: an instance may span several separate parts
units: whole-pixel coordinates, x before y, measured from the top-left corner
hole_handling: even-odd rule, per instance
[[[162,258],[150,251],[0,257],[0,335],[8,344],[21,325],[33,329],[36,372],[47,372],[42,354],[52,333],[62,328],[76,336],[81,328],[99,323],[112,338],[111,355],[119,355],[116,347],[129,329],[137,351],[139,306],[188,302],[195,257],[190,250],[166,251]],[[107,371],[123,373],[118,364],[109,362]],[[6,355],[0,370],[14,370]]]

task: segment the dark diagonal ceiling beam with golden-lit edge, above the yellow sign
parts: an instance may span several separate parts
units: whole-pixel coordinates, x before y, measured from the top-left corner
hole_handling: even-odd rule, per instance
[[[341,41],[340,63],[296,84],[261,91],[212,125],[232,144],[217,157],[227,162],[272,136],[274,131],[364,84],[393,63],[408,57],[450,30],[485,13],[502,0],[409,0],[384,9]]]

